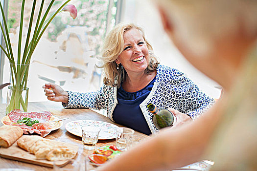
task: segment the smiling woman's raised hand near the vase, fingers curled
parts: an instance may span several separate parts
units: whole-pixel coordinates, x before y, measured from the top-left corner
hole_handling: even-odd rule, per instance
[[[64,91],[59,85],[47,83],[42,86],[46,92],[47,99],[55,102],[68,103],[68,92]]]

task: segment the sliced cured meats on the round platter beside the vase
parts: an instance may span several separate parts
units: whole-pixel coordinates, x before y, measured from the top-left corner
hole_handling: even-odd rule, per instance
[[[8,113],[8,117],[11,122],[3,121],[5,125],[17,126],[23,129],[24,134],[37,133],[42,137],[47,136],[51,132],[51,127],[48,122],[52,114],[49,111],[44,112],[23,112],[20,109],[14,109]],[[40,123],[33,124],[32,127],[28,127],[25,124],[16,124],[19,119],[25,117],[31,118],[32,120],[38,120]]]

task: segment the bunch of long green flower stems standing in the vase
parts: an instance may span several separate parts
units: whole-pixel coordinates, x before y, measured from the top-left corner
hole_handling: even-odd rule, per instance
[[[15,64],[16,62],[14,59],[12,45],[10,42],[10,36],[9,36],[8,28],[7,28],[7,21],[6,21],[4,12],[3,12],[2,4],[0,2],[0,10],[2,13],[2,18],[3,18],[3,24],[0,23],[0,29],[1,29],[1,32],[3,35],[3,40],[4,40],[4,43],[6,46],[6,50],[2,45],[0,45],[0,49],[4,52],[4,54],[7,56],[8,60],[10,62],[10,68],[11,68],[10,74],[11,74],[11,81],[12,81],[12,86],[10,87],[12,90],[11,91],[12,94],[9,99],[10,102],[9,102],[8,106],[6,107],[6,110],[8,112],[10,112],[14,108],[19,109],[20,107],[22,107],[24,111],[27,111],[28,89],[26,88],[26,86],[27,86],[27,79],[28,79],[29,64],[30,64],[32,54],[33,54],[37,44],[39,43],[39,40],[43,36],[48,25],[50,24],[50,22],[54,19],[54,17],[60,11],[62,11],[62,8],[68,2],[70,2],[70,0],[65,0],[65,2],[58,8],[58,10],[51,17],[49,17],[47,19],[47,15],[48,15],[50,8],[52,7],[54,1],[55,0],[51,0],[42,19],[41,19],[41,15],[42,15],[45,0],[41,1],[39,14],[37,16],[37,22],[35,25],[32,39],[31,39],[30,38],[31,28],[32,28],[35,7],[36,7],[36,0],[33,0],[32,10],[31,10],[31,14],[30,14],[30,21],[29,21],[29,25],[28,25],[26,41],[24,44],[24,51],[23,51],[23,55],[22,55],[22,53],[21,53],[22,46],[21,45],[22,45],[22,35],[23,35],[23,17],[24,17],[24,10],[25,10],[25,0],[22,0],[21,21],[20,21],[20,30],[19,30],[19,39],[18,39],[17,64]],[[30,39],[31,39],[31,41],[30,41]],[[24,97],[25,99],[23,99],[23,97],[22,97],[23,90],[25,90],[27,92],[26,97]]]

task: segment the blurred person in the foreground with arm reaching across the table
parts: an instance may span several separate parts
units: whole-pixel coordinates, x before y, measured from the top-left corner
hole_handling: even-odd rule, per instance
[[[209,159],[214,171],[256,171],[257,1],[155,2],[174,44],[225,94],[199,119],[159,133],[99,170],[171,170]]]

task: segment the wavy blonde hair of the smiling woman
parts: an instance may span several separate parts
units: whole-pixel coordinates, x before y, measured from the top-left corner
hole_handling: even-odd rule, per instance
[[[119,87],[125,78],[125,69],[122,66],[117,69],[115,60],[117,60],[119,54],[123,51],[124,33],[132,28],[136,28],[140,31],[149,50],[150,62],[145,69],[145,74],[150,74],[155,71],[159,64],[157,57],[153,53],[152,45],[145,39],[143,29],[133,23],[119,23],[105,37],[101,57],[99,57],[103,64],[98,67],[104,68],[105,77],[103,83],[105,85]]]

